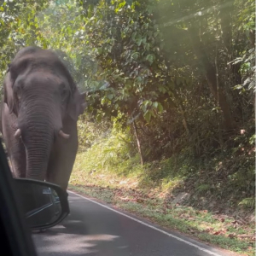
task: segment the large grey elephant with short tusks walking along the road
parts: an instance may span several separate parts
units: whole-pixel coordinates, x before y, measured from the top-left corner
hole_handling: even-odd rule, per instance
[[[53,50],[20,49],[5,75],[1,102],[0,130],[13,177],[67,190],[85,106],[85,93]]]

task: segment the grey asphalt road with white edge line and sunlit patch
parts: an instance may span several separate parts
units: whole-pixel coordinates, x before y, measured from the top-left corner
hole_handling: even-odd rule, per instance
[[[61,224],[33,235],[39,256],[224,255],[82,196],[69,193],[69,203],[71,213]]]

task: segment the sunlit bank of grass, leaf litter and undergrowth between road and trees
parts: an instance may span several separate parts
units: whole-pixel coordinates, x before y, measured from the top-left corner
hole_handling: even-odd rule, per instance
[[[233,148],[209,159],[178,154],[141,166],[127,132],[112,131],[78,154],[70,185],[201,241],[253,255],[253,160],[252,149],[234,154]],[[200,211],[207,214],[198,217]]]

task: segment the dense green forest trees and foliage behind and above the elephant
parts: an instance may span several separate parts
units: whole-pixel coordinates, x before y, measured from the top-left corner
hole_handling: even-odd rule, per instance
[[[129,135],[131,155],[138,152],[142,164],[174,155],[239,158],[242,164],[230,172],[250,179],[252,195],[254,5],[6,0],[0,7],[0,79],[20,47],[57,49],[79,88],[88,90],[81,148],[114,126]]]

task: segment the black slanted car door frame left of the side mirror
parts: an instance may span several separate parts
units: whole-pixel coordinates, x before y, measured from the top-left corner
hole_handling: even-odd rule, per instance
[[[2,141],[0,144],[0,224],[3,227],[2,236],[8,241],[8,244],[1,242],[1,250],[9,250],[12,256],[36,256],[31,231],[26,226],[25,218],[20,211],[20,203],[15,195],[13,177]]]

